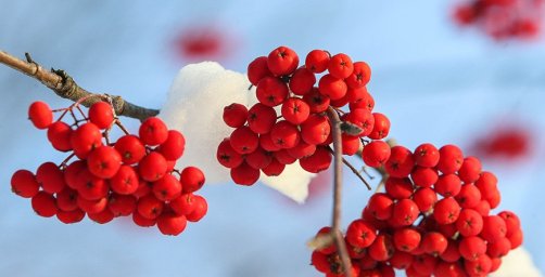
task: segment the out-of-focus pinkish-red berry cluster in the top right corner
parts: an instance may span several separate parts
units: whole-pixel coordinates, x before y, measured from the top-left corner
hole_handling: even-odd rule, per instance
[[[529,39],[538,35],[543,0],[470,0],[455,8],[454,18],[473,25],[498,39]]]

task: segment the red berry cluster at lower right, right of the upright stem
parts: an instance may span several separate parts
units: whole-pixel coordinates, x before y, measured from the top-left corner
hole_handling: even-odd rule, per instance
[[[367,147],[364,160],[375,155]],[[353,276],[395,276],[394,269],[417,277],[486,276],[522,243],[515,213],[491,214],[500,201],[497,179],[479,159],[464,157],[455,145],[388,151],[385,192],[373,194],[346,229]],[[334,245],[314,251],[312,263],[326,276],[344,276]]]

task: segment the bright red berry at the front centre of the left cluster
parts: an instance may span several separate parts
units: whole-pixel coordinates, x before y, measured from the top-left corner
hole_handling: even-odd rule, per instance
[[[111,146],[100,146],[87,158],[89,171],[98,177],[113,177],[122,166],[122,156]]]

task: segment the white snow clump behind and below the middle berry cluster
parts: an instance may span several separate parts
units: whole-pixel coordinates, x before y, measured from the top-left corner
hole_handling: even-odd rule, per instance
[[[216,147],[229,136],[232,129],[223,121],[223,110],[231,103],[253,105],[255,92],[249,91],[250,81],[244,74],[226,70],[214,62],[185,66],[176,76],[160,117],[186,136],[183,160],[178,168],[195,166],[206,174],[206,183],[230,182],[229,170],[216,160]],[[308,184],[315,174],[299,164],[286,167],[281,176],[261,181],[297,202],[308,194]]]

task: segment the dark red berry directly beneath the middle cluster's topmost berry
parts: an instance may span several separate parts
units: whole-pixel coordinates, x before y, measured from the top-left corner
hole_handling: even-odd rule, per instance
[[[257,83],[255,95],[263,105],[275,107],[288,98],[289,90],[288,85],[278,78],[265,77]]]

